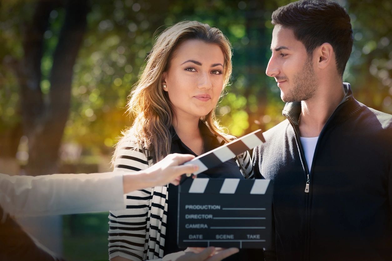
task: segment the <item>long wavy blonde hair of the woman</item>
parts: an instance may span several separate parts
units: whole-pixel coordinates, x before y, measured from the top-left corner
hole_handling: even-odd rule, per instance
[[[196,21],[183,21],[167,28],[158,36],[147,56],[146,67],[129,95],[127,111],[133,114],[135,119],[131,128],[123,132],[113,161],[117,151],[121,149],[119,144],[124,140],[135,142],[153,163],[170,154],[170,127],[174,110],[168,95],[162,90],[162,73],[169,69],[169,63],[178,45],[186,40],[201,40],[219,45],[225,59],[223,87],[229,83],[232,71],[231,45],[219,29]],[[205,122],[212,133],[229,141],[229,137],[216,121],[215,108],[202,117],[201,121]]]

